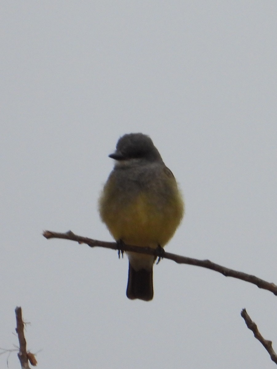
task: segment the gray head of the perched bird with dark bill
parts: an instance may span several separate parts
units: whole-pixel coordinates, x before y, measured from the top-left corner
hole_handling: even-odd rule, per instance
[[[128,159],[162,161],[152,139],[142,133],[129,133],[120,137],[115,152],[109,156],[117,161]]]

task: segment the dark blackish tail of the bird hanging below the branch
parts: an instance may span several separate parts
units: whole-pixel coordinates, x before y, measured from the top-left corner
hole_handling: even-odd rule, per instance
[[[128,299],[150,301],[153,299],[153,269],[136,271],[129,263],[128,284],[126,295]]]

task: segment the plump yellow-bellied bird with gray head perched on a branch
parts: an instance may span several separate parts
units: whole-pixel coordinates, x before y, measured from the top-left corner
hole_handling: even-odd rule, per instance
[[[118,243],[163,248],[184,215],[184,201],[173,173],[152,139],[125,134],[109,155],[114,168],[98,201],[100,218]],[[155,256],[127,252],[128,299],[153,299]]]

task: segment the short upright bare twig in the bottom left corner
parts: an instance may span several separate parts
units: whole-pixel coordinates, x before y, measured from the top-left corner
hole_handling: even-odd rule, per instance
[[[17,356],[20,361],[21,368],[30,369],[28,361],[30,361],[30,363],[34,366],[37,365],[37,361],[35,359],[34,354],[32,354],[30,351],[27,352],[26,350],[26,339],[24,337],[24,323],[22,320],[21,307],[15,308],[15,317],[16,317],[15,331],[17,332],[19,341],[19,352]]]

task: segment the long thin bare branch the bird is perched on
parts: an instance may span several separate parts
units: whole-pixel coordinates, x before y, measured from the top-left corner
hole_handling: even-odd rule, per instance
[[[138,252],[139,254],[154,255],[158,257],[162,256],[162,258],[173,260],[178,264],[189,264],[189,265],[201,266],[202,268],[211,269],[211,270],[214,270],[215,272],[221,273],[225,277],[233,277],[233,278],[237,278],[240,280],[244,280],[245,282],[256,284],[257,287],[262,288],[264,290],[268,290],[277,296],[276,284],[266,282],[263,279],[260,279],[258,277],[255,277],[247,273],[238,272],[237,270],[226,268],[225,266],[213,263],[210,260],[198,260],[198,259],[193,259],[193,258],[187,258],[186,256],[171,254],[170,252],[163,252],[163,254],[160,255],[159,249],[151,249],[149,247],[139,247],[139,246],[125,245],[125,244],[118,245],[116,242],[98,241],[96,239],[78,236],[71,231],[68,231],[66,233],[44,231],[43,235],[47,239],[49,238],[70,239],[72,241],[79,242],[79,244],[87,244],[90,247],[100,246],[100,247],[105,247],[105,248],[119,250],[119,251],[133,251],[133,252]]]

